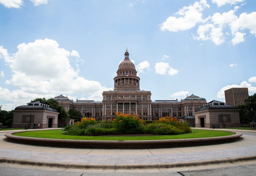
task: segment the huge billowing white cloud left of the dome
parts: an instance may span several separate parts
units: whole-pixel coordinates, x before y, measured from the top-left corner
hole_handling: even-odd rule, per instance
[[[20,105],[33,98],[51,98],[63,92],[69,95],[86,92],[83,96],[102,100],[102,91],[113,89],[101,86],[97,81],[80,77],[69,60],[71,56],[79,58],[79,53],[60,48],[54,40],[22,43],[18,46],[18,51],[12,55],[10,57],[8,51],[0,47],[0,56],[5,58],[6,64],[13,72],[11,79],[6,80],[6,84],[17,87],[16,90],[0,88],[2,100],[14,101]],[[19,102],[20,100],[27,102]]]

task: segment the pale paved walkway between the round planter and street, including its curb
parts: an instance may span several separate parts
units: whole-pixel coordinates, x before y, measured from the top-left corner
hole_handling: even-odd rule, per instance
[[[81,149],[24,145],[7,141],[4,136],[6,131],[1,131],[0,166],[8,163],[58,169],[140,169],[159,172],[169,168],[232,164],[239,161],[256,163],[256,131],[235,131],[244,133],[235,142],[162,149]]]

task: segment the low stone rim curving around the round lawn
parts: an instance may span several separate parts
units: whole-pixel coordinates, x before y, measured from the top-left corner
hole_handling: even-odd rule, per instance
[[[230,131],[233,132],[233,131]],[[235,133],[230,136],[206,137],[192,139],[170,139],[170,140],[145,140],[145,141],[96,141],[96,140],[67,140],[67,139],[47,139],[36,137],[14,136],[14,133],[6,133],[5,137],[9,141],[26,143],[32,145],[47,145],[55,147],[75,147],[75,148],[97,148],[97,149],[153,149],[167,147],[183,147],[196,145],[210,145],[226,143],[239,140],[242,133]]]

